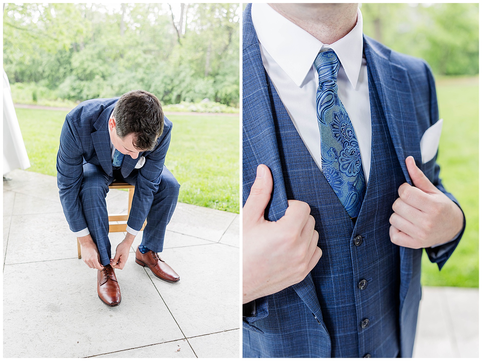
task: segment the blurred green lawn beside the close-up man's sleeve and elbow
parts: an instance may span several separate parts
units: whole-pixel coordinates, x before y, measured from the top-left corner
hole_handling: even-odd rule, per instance
[[[460,202],[467,226],[442,271],[424,252],[422,284],[479,287],[479,79],[437,81],[442,137],[437,162],[445,189]]]

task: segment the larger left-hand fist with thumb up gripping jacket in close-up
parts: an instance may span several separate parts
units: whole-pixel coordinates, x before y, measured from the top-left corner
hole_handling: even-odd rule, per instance
[[[302,281],[321,257],[307,203],[288,201],[277,222],[265,219],[273,178],[260,164],[243,207],[243,304]]]

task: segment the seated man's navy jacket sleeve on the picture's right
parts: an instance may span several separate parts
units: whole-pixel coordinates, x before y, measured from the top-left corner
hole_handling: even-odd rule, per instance
[[[161,183],[162,168],[166,159],[167,150],[171,143],[171,129],[164,126],[164,132],[159,137],[158,145],[146,156],[146,162],[137,173],[134,197],[132,199],[131,213],[127,225],[135,230],[140,230],[154,200],[154,194]]]

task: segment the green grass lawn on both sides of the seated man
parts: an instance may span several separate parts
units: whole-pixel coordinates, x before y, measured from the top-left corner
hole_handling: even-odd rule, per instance
[[[55,160],[67,112],[15,109],[32,172],[57,175]],[[171,115],[166,167],[181,185],[179,201],[239,213],[239,118]]]

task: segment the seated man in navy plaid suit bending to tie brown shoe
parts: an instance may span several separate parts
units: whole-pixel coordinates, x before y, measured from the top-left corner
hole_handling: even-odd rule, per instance
[[[62,127],[57,154],[60,201],[84,262],[97,269],[97,293],[107,306],[120,304],[114,268],[125,266],[146,219],[136,263],[164,281],[179,281],[158,255],[180,187],[164,166],[172,126],[156,96],[136,90],[80,103]],[[114,180],[135,185],[135,191],[125,239],[111,258],[106,194]]]

